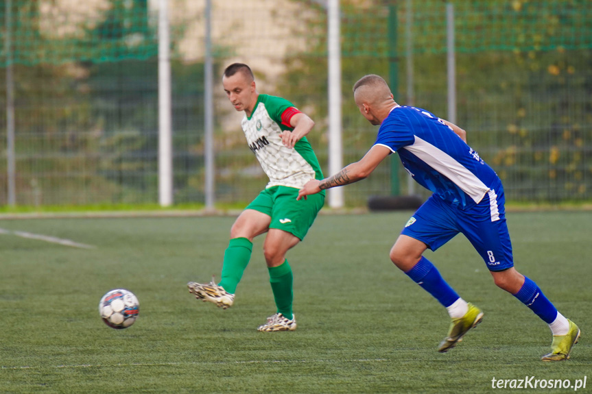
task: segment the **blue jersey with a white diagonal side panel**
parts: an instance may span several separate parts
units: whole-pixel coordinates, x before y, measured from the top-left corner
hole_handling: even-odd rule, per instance
[[[394,107],[380,125],[375,145],[399,153],[418,184],[451,204],[474,206],[501,184],[451,127],[421,108]]]

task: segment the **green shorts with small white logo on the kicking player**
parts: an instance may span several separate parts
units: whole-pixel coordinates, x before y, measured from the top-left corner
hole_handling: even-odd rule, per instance
[[[272,186],[263,190],[246,209],[257,210],[272,218],[270,228],[294,234],[302,241],[324,204],[324,193],[296,201],[298,189]]]

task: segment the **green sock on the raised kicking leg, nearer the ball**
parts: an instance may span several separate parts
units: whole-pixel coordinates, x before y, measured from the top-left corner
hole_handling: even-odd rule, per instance
[[[224,251],[222,280],[219,285],[230,294],[237,291],[237,286],[249,264],[253,244],[247,238],[233,238]]]

